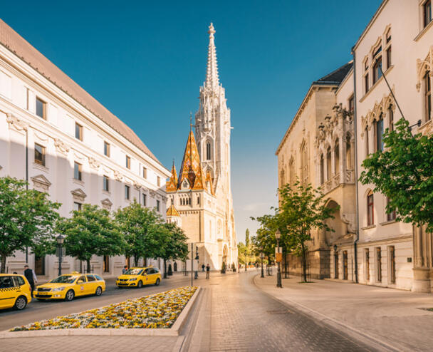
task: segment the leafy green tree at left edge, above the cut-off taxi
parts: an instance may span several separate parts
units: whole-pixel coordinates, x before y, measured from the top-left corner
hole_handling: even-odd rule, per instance
[[[0,272],[6,271],[6,258],[30,247],[36,254],[53,249],[54,229],[60,203],[48,200],[46,193],[26,190],[27,182],[13,177],[0,178]]]

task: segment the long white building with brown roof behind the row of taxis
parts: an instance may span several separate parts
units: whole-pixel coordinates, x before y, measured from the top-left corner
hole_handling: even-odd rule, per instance
[[[0,41],[0,177],[27,178],[29,187],[62,204],[63,217],[83,203],[114,210],[134,199],[165,217],[169,171],[135,133],[2,21]],[[36,147],[43,148],[43,162],[36,160]],[[54,256],[36,261],[28,253],[27,262],[42,279],[57,274]],[[25,263],[19,252],[6,267],[22,271]],[[93,271],[106,277],[124,265],[124,257],[91,260]],[[66,257],[62,269],[83,266]]]

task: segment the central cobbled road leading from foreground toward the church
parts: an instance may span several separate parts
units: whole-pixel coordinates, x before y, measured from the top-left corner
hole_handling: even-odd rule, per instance
[[[209,282],[182,351],[374,351],[267,296],[255,274]]]

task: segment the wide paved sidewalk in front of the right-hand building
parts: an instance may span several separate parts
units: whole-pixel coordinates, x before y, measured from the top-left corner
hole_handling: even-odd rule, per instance
[[[276,288],[276,275],[254,277],[256,286],[288,306],[340,328],[352,336],[381,341],[397,351],[432,351],[432,294],[417,294],[361,284],[314,280],[300,284],[299,276],[283,279]]]

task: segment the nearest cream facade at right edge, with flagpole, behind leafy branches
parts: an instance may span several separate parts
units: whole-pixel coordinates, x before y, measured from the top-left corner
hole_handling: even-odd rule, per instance
[[[383,1],[355,44],[359,172],[367,153],[377,150],[377,131],[392,128],[392,123],[401,118],[384,78],[375,73],[378,60],[382,62],[382,70],[409,124],[422,120],[421,128],[414,128],[413,133],[432,128],[431,108],[426,109],[425,104],[425,76],[427,73],[427,80],[431,82],[433,30],[432,22],[427,21],[424,25],[425,3],[419,0]],[[358,185],[359,281],[419,291],[420,281],[414,278],[414,273],[417,266],[427,272],[432,270],[428,258],[431,249],[427,251],[427,257],[424,258],[423,253],[417,256],[413,246],[417,237],[414,237],[412,225],[395,222],[392,214],[386,214],[387,200],[383,195],[372,195],[373,212],[372,219],[369,218],[367,196],[370,190],[371,185]],[[425,254],[426,240],[420,244],[421,252]],[[370,259],[368,262],[367,258]],[[428,281],[426,279],[424,284],[430,286]],[[429,287],[421,290],[430,291]]]

